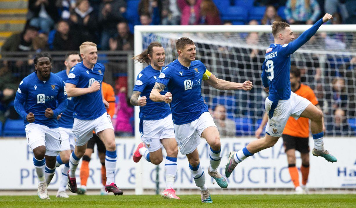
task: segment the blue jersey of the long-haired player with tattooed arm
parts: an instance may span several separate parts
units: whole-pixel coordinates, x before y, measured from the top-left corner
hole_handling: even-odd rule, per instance
[[[137,75],[133,91],[139,91],[141,92],[141,97],[147,97],[147,104],[140,107],[140,119],[142,120],[158,120],[166,118],[171,113],[171,108],[169,108],[167,103],[153,102],[150,99],[151,91],[155,86],[160,73],[161,71],[158,71],[152,68],[151,65],[148,65],[140,72],[140,74]],[[166,94],[166,92],[168,92],[167,88],[161,92],[161,95]]]

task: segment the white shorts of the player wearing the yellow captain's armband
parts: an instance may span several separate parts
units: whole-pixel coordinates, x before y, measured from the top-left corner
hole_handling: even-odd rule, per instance
[[[204,112],[198,119],[190,123],[182,125],[174,124],[180,153],[192,153],[200,143],[201,133],[208,127],[216,127],[213,117],[209,112]]]

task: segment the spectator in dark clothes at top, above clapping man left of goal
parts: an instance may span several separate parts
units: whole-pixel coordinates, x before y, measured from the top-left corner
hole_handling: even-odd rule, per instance
[[[101,49],[109,50],[109,39],[117,35],[116,25],[125,21],[126,1],[104,0],[99,7],[99,23],[101,26]]]

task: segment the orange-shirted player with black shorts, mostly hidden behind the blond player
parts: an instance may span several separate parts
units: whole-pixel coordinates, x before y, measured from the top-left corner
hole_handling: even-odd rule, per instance
[[[111,85],[103,82],[103,94],[104,99],[108,101],[109,108],[106,109],[106,112],[112,116],[115,113],[115,93],[114,88]],[[78,188],[78,194],[85,194],[87,192],[87,181],[89,178],[89,162],[91,158],[91,154],[94,152],[94,145],[96,143],[96,148],[98,150],[98,156],[101,163],[101,183],[103,184],[103,188],[100,190],[101,195],[106,195],[105,184],[106,184],[106,168],[105,168],[105,152],[106,148],[103,141],[95,134],[93,131],[93,137],[91,137],[88,141],[87,149],[85,150],[82,165],[80,166],[80,188]]]

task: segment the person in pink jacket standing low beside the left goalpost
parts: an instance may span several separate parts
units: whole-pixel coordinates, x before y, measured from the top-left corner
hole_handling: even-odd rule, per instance
[[[132,125],[130,118],[133,116],[133,107],[127,101],[126,88],[121,87],[119,91],[120,103],[117,108],[116,128],[117,136],[132,136]]]

